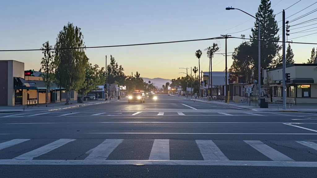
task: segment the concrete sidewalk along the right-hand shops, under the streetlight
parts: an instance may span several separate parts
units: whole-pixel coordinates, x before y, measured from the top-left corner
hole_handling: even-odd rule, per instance
[[[186,97],[180,97],[183,99],[191,99],[189,96]],[[268,104],[268,108],[260,108],[257,103],[251,102],[249,103],[235,103],[233,101],[229,101],[229,104],[227,104],[225,101],[207,101],[206,98],[197,98],[197,99],[191,99],[195,101],[201,101],[205,103],[211,103],[215,105],[221,105],[221,106],[228,106],[232,108],[238,108],[238,109],[245,109],[245,110],[251,110],[251,111],[277,111],[277,112],[317,112],[317,104],[297,104],[297,105],[286,105],[286,110],[283,110],[283,105],[280,104]]]

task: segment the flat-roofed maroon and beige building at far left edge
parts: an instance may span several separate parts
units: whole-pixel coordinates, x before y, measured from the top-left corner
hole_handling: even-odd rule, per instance
[[[24,63],[0,60],[0,106],[14,106],[14,77],[24,78]]]

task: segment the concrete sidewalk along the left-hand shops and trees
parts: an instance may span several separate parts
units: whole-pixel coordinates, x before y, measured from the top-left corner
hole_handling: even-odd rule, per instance
[[[122,98],[121,100],[124,100]],[[85,101],[85,103],[77,103],[77,100],[69,101],[69,105],[65,105],[65,101],[57,102],[57,103],[49,103],[49,107],[46,107],[46,104],[38,104],[38,105],[16,105],[16,106],[0,106],[0,112],[23,112],[23,111],[56,111],[62,109],[69,109],[80,106],[88,106],[88,105],[98,105],[103,103],[115,102],[117,99],[111,99],[108,101],[105,100],[97,100],[97,101]]]

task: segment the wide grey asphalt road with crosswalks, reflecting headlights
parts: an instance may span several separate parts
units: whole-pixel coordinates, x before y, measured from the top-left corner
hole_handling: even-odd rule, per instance
[[[0,113],[0,177],[317,177],[316,121],[167,95]]]

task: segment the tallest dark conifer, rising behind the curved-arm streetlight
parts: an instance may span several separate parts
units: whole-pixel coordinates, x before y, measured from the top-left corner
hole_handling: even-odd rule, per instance
[[[261,41],[261,69],[267,68],[272,63],[275,56],[281,50],[281,46],[277,42],[280,41],[279,35],[277,35],[279,28],[277,27],[277,22],[275,20],[275,14],[273,14],[273,9],[271,9],[270,0],[261,0],[261,4],[256,13],[256,18],[260,19],[260,39]],[[257,71],[258,69],[258,21],[254,23],[254,28],[251,29],[252,35],[250,35],[251,47],[253,52],[251,55],[252,63]],[[276,36],[277,35],[277,36]],[[256,73],[257,76],[257,73]],[[256,77],[255,76],[255,77]]]

